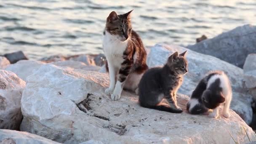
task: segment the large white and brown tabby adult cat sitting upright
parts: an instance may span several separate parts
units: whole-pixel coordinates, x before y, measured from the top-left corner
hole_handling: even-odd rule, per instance
[[[117,15],[112,11],[107,17],[103,33],[106,69],[110,78],[105,93],[111,95],[112,100],[120,99],[123,88],[138,94],[139,81],[148,69],[142,40],[132,30],[131,12]]]

